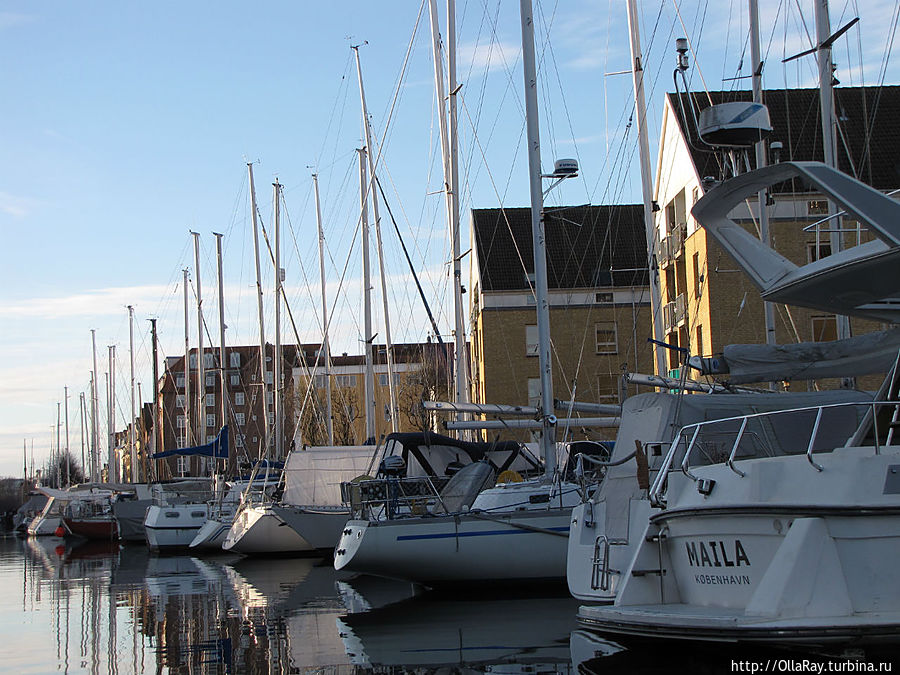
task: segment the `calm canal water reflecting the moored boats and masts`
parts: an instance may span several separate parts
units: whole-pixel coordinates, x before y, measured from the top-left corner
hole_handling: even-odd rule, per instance
[[[729,673],[766,656],[600,639],[577,630],[577,607],[555,592],[415,594],[330,560],[0,537],[0,672]]]

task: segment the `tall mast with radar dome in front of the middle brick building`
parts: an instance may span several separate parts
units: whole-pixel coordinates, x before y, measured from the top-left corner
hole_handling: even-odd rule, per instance
[[[541,141],[534,62],[534,16],[531,0],[520,0],[522,65],[525,77],[525,121],[528,132],[528,175],[531,193],[531,238],[534,246],[534,291],[537,309],[538,361],[541,374],[541,451],[548,477],[556,471],[556,416],[553,414],[553,374],[550,360],[550,303],[544,235],[544,195],[541,186]]]

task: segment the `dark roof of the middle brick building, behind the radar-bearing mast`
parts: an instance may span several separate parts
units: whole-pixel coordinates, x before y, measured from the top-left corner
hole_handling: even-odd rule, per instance
[[[472,229],[482,290],[529,288],[531,209],[473,209]],[[648,283],[643,206],[547,207],[544,231],[551,290]]]

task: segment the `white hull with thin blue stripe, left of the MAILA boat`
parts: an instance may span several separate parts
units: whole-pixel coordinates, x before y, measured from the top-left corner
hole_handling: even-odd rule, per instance
[[[562,581],[571,507],[474,515],[350,520],[335,569],[425,585]]]

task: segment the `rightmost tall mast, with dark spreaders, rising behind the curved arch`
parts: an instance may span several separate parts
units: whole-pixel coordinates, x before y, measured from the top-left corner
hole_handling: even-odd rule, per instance
[[[831,59],[831,18],[828,14],[828,0],[816,0],[816,58],[819,65],[819,109],[822,114],[822,154],[825,164],[837,169],[837,120],[834,117],[834,63]],[[831,253],[844,248],[841,233],[842,222],[835,203],[828,200],[829,229],[831,230]],[[818,241],[818,237],[816,237]],[[818,255],[818,251],[816,252]],[[837,317],[837,338],[850,337],[850,320],[846,316]]]

